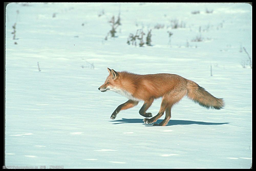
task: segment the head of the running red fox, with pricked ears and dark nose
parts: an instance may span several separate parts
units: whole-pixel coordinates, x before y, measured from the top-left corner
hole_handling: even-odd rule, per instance
[[[101,92],[105,92],[105,91],[109,91],[117,88],[116,85],[118,85],[119,83],[119,74],[113,70],[113,69],[108,69],[109,72],[109,76],[106,78],[106,81],[104,82],[104,84],[102,84],[98,89]]]

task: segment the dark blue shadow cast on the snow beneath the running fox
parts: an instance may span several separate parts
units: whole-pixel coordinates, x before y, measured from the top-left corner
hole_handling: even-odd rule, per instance
[[[162,122],[163,119],[158,119],[156,123]],[[143,123],[143,119],[126,119],[122,118],[122,120],[115,120],[115,121],[109,121],[109,122],[119,122],[119,123],[113,123],[113,124],[121,124],[121,123]],[[223,122],[223,123],[215,123],[215,122],[199,122],[199,121],[185,121],[185,120],[170,120],[169,123],[166,126],[171,125],[191,125],[191,124],[198,124],[198,125],[223,125],[223,124],[229,124],[229,122]],[[144,124],[147,126],[151,126],[151,124]]]

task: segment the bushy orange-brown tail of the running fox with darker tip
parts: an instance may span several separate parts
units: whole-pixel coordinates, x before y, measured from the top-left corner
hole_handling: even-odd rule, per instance
[[[197,83],[187,80],[187,96],[194,102],[200,104],[205,108],[222,109],[224,107],[223,99],[218,99],[211,95],[204,88],[200,87]]]

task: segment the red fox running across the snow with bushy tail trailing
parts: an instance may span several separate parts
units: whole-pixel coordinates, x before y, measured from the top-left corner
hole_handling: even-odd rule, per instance
[[[132,108],[142,100],[144,104],[139,111],[140,115],[152,117],[152,113],[146,113],[146,111],[154,99],[160,97],[162,97],[162,103],[158,114],[151,119],[145,118],[143,120],[144,123],[151,124],[156,122],[165,111],[165,119],[159,124],[153,124],[153,126],[165,126],[171,118],[172,106],[178,103],[185,95],[208,109],[219,110],[224,107],[223,99],[214,97],[194,81],[187,80],[176,74],[139,75],[126,71],[116,72],[113,69],[107,69],[109,76],[98,89],[101,92],[115,91],[129,99],[116,108],[110,117],[111,119],[115,119],[121,110]]]

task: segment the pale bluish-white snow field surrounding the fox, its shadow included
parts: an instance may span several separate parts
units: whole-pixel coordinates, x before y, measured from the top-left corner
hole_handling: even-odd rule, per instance
[[[119,12],[118,37],[104,40],[108,21]],[[185,26],[172,29],[170,20]],[[157,24],[164,28],[154,29]],[[127,45],[129,34],[141,28],[146,34],[152,29],[153,46]],[[173,33],[170,42],[167,31]],[[192,41],[200,35],[202,41]],[[250,168],[252,69],[242,47],[252,58],[249,4],[8,4],[5,165]],[[167,126],[153,127],[143,123],[140,102],[111,120],[127,99],[98,90],[107,67],[178,74],[226,106],[207,110],[184,98]],[[157,114],[160,103],[155,100],[148,111]]]

